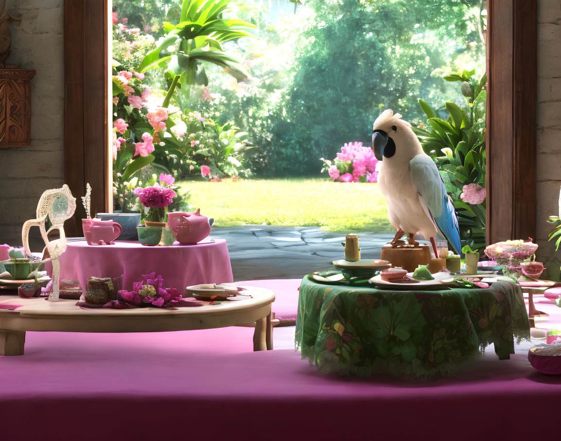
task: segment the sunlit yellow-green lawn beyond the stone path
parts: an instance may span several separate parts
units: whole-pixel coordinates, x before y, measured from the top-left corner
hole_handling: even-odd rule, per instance
[[[377,183],[328,178],[183,181],[189,204],[217,226],[321,226],[330,231],[392,232]]]

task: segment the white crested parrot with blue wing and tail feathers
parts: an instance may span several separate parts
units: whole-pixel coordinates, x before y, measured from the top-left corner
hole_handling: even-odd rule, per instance
[[[384,111],[374,122],[372,148],[381,161],[378,183],[388,203],[388,218],[397,229],[392,245],[404,233],[409,241],[417,233],[429,239],[434,255],[438,251],[434,238],[439,232],[460,253],[458,218],[452,200],[446,193],[434,161],[425,154],[411,130],[411,124],[400,114]]]

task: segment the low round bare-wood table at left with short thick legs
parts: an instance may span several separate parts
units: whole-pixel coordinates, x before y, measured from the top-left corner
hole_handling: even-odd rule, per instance
[[[272,348],[271,304],[274,292],[245,287],[252,298],[203,302],[203,306],[160,309],[82,309],[76,300],[50,302],[44,297],[3,296],[0,301],[0,355],[23,355],[26,331],[167,332],[224,328],[255,322],[254,351]],[[19,306],[16,309],[4,309]]]

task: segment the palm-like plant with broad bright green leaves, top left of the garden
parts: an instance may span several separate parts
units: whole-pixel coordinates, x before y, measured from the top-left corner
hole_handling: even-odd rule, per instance
[[[165,36],[158,46],[146,54],[139,66],[144,72],[150,68],[163,67],[171,81],[162,107],[168,107],[177,84],[183,88],[208,84],[203,62],[214,63],[238,81],[249,77],[240,61],[229,55],[222,47],[225,42],[250,33],[255,25],[238,19],[224,19],[231,0],[183,0],[180,23],[164,22]]]

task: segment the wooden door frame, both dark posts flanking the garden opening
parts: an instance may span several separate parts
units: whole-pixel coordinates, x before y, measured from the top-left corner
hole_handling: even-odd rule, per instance
[[[75,196],[90,183],[93,213],[113,202],[109,16],[108,0],[65,0],[65,182]],[[486,238],[493,243],[536,237],[536,2],[488,0],[488,17]],[[70,235],[81,236],[83,217],[78,204]]]

